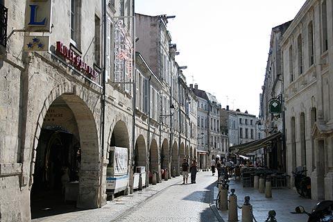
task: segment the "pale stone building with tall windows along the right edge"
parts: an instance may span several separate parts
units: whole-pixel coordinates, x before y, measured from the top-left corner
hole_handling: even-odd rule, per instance
[[[327,200],[333,198],[332,7],[331,0],[306,1],[281,42],[287,172],[305,167],[312,198]]]

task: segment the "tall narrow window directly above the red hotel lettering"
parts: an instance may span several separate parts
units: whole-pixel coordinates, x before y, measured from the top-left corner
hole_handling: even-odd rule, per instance
[[[80,43],[80,0],[71,0],[71,44],[79,47]]]

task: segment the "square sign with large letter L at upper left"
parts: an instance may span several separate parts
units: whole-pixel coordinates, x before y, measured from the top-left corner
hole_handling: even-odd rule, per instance
[[[50,32],[52,0],[28,0],[26,2],[27,32]]]

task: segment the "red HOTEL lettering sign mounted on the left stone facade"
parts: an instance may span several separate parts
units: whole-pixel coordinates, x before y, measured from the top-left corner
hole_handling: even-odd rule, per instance
[[[99,75],[98,71],[96,71],[92,66],[87,65],[87,63],[83,60],[81,56],[76,54],[69,47],[62,44],[62,42],[57,42],[56,53],[68,60],[71,65],[76,67],[78,71],[83,72],[85,76],[95,79]]]

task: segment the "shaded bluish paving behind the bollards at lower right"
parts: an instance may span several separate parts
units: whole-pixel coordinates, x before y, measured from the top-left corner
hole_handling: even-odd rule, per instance
[[[305,214],[291,214],[295,211],[295,207],[302,205],[305,210],[310,211],[317,200],[302,198],[298,195],[296,190],[283,188],[272,189],[272,198],[265,198],[265,194],[260,194],[257,189],[244,188],[241,182],[230,181],[229,190],[234,188],[237,195],[238,205],[244,203],[244,197],[250,196],[250,204],[253,205],[253,215],[257,222],[264,222],[268,217],[269,210],[275,210],[276,219],[278,222],[304,222],[307,221]],[[214,196],[218,194],[219,190],[214,187]],[[221,212],[220,215],[224,221],[228,221],[228,211]],[[239,221],[241,221],[241,210],[238,210]]]

